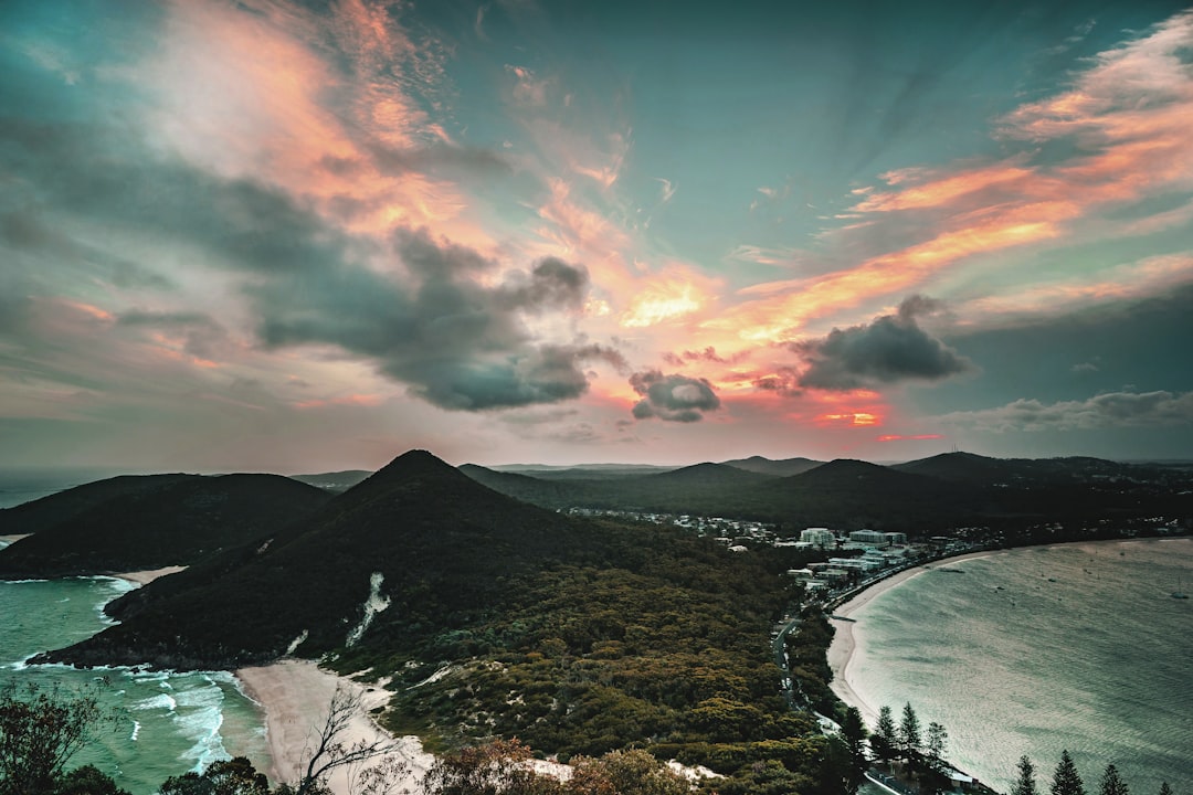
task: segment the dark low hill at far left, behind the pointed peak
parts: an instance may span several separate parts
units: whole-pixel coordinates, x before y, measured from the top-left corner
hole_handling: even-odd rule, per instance
[[[152,483],[115,496],[104,489],[103,502],[93,501],[97,490],[88,485],[47,497],[73,508],[94,504],[0,549],[0,579],[188,565],[272,533],[330,498],[277,474],[160,476]]]

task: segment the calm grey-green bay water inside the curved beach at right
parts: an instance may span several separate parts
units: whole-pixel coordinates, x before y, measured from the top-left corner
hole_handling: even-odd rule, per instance
[[[945,571],[945,569],[960,570]],[[1193,539],[1055,545],[938,564],[851,613],[848,679],[898,722],[910,703],[946,757],[999,791],[1068,750],[1096,791],[1193,791]],[[866,712],[866,710],[864,710]]]

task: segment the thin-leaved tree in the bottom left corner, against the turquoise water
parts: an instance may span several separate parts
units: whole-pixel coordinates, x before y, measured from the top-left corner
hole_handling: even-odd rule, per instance
[[[105,718],[91,694],[72,696],[57,685],[47,691],[36,683],[0,688],[0,795],[52,793]]]

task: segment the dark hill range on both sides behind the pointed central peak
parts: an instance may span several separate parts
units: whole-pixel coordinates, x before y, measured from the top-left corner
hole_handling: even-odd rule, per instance
[[[1189,468],[960,452],[892,466],[753,456],[679,468],[526,465],[497,471],[465,464],[458,472],[549,510],[736,517],[792,533],[830,526],[931,534],[968,524],[1187,516],[1193,499]],[[360,470],[290,479],[160,474],[86,484],[0,510],[0,534],[35,534],[0,551],[0,577],[192,565],[295,523],[332,495],[375,477]]]

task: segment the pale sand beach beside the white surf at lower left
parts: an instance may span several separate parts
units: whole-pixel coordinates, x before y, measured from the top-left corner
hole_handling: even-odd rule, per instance
[[[266,772],[274,782],[297,781],[307,751],[327,718],[327,708],[336,685],[350,688],[360,696],[360,708],[342,738],[345,745],[358,740],[391,739],[370,715],[371,709],[388,700],[389,694],[382,688],[361,685],[324,671],[310,660],[298,659],[243,667],[236,671],[236,678],[245,694],[265,710],[266,737],[272,756]],[[407,764],[407,772],[396,791],[410,795],[421,793],[422,777],[434,757],[422,751],[416,737],[397,738],[396,741],[396,753]],[[350,795],[348,772],[341,770],[328,782],[335,795]]]

